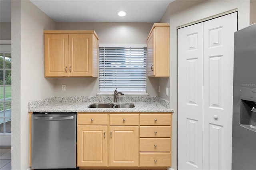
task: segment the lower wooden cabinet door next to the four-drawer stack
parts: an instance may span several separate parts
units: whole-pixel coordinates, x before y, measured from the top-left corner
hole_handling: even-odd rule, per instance
[[[109,166],[138,166],[138,126],[110,126]]]

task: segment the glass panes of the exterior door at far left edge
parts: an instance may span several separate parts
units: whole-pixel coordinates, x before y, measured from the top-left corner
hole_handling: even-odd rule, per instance
[[[11,53],[0,52],[0,134],[11,133]]]

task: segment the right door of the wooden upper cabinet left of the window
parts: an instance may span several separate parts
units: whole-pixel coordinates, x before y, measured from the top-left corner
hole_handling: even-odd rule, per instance
[[[69,34],[69,76],[92,76],[92,34]]]

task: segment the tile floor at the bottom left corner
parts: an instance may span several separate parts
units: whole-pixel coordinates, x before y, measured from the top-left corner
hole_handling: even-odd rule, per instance
[[[10,146],[0,146],[0,170],[11,169],[11,148]]]

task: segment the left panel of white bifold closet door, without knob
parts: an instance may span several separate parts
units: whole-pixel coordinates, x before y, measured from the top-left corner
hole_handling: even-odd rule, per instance
[[[178,30],[178,169],[201,170],[203,24]]]

